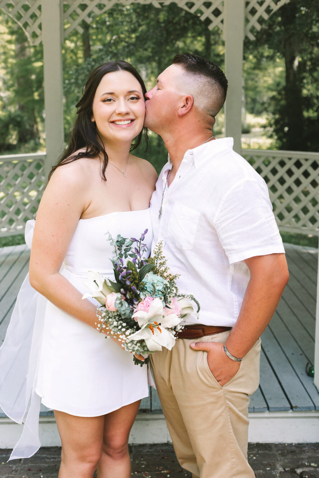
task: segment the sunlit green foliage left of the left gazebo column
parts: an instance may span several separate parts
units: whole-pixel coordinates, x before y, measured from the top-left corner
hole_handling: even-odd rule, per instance
[[[22,29],[0,14],[0,152],[41,147],[43,49],[31,47]]]

